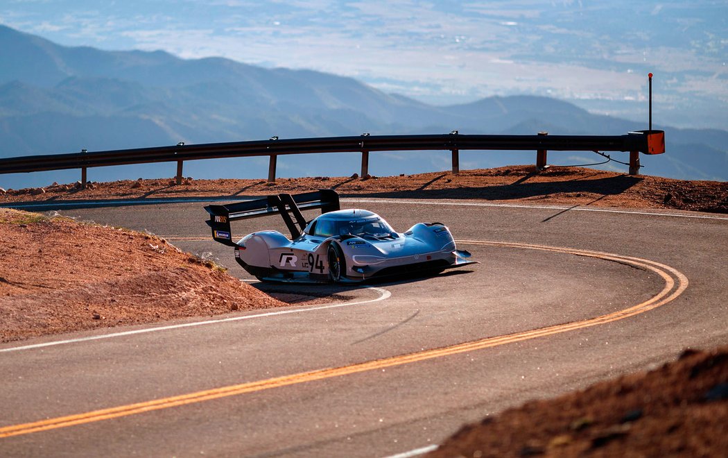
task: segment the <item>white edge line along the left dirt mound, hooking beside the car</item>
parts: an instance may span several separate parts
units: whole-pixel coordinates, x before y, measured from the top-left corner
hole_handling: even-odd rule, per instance
[[[31,344],[31,345],[22,345],[20,347],[0,348],[0,353],[17,352],[20,350],[31,350],[34,348],[53,347],[55,345],[63,345],[63,344],[74,344],[76,342],[84,342],[84,341],[92,341],[92,340],[100,340],[100,339],[111,339],[114,337],[132,336],[135,334],[143,334],[143,333],[149,333],[149,332],[168,331],[170,329],[191,328],[194,326],[228,323],[230,321],[252,320],[253,318],[273,317],[273,316],[277,316],[277,315],[289,315],[291,313],[309,312],[309,311],[313,311],[313,310],[325,310],[325,309],[336,309],[339,307],[351,307],[353,305],[370,304],[371,302],[384,301],[385,299],[389,299],[389,296],[392,296],[392,293],[384,288],[376,288],[373,286],[369,286],[369,287],[363,288],[363,289],[376,291],[377,293],[379,293],[379,297],[376,299],[369,299],[368,301],[344,302],[342,304],[329,304],[329,305],[323,305],[320,307],[306,307],[306,308],[293,309],[293,310],[280,310],[278,312],[259,313],[257,315],[245,315],[242,317],[221,318],[219,320],[206,320],[206,321],[197,321],[195,323],[183,323],[183,324],[179,324],[179,325],[158,326],[157,328],[137,329],[135,331],[122,331],[122,332],[115,332],[115,333],[109,333],[109,334],[101,334],[99,336],[79,337],[78,339],[57,340],[57,341],[44,342],[42,344]]]

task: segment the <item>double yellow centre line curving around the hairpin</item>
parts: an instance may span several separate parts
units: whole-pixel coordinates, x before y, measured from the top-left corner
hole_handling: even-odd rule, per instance
[[[23,435],[29,433],[38,433],[40,431],[54,430],[56,428],[69,427],[74,425],[83,425],[84,423],[100,422],[101,420],[119,418],[120,416],[128,416],[135,414],[143,414],[144,412],[155,411],[162,408],[170,408],[176,406],[184,406],[185,404],[199,403],[205,400],[217,398],[225,398],[227,396],[242,395],[249,392],[258,392],[269,390],[271,388],[285,387],[288,385],[314,382],[317,380],[330,379],[332,377],[345,376],[349,374],[358,374],[360,372],[381,370],[393,366],[401,366],[403,364],[416,363],[418,361],[430,360],[432,358],[441,358],[448,355],[456,355],[458,353],[472,352],[482,350],[484,348],[496,347],[504,344],[512,344],[518,341],[536,339],[537,337],[552,336],[557,333],[574,331],[577,329],[588,328],[590,326],[611,323],[612,321],[623,320],[640,313],[647,312],[656,307],[675,299],[679,296],[688,285],[685,275],[665,264],[659,264],[641,258],[633,258],[629,256],[619,256],[611,253],[600,253],[588,250],[575,250],[572,248],[558,248],[544,245],[529,245],[523,243],[510,242],[486,242],[480,240],[459,240],[459,243],[467,245],[487,245],[505,248],[525,248],[531,250],[545,250],[555,253],[567,253],[576,256],[587,256],[590,258],[600,258],[606,261],[614,261],[622,264],[630,264],[640,269],[655,272],[665,280],[665,287],[660,293],[651,299],[637,304],[634,307],[623,309],[617,312],[590,318],[588,320],[576,321],[573,323],[565,323],[561,325],[548,326],[546,328],[534,329],[519,333],[507,334],[505,336],[488,337],[476,341],[465,342],[462,344],[452,345],[450,347],[437,348],[434,350],[425,350],[422,352],[410,353],[408,355],[392,356],[381,360],[367,361],[365,363],[353,364],[351,366],[343,366],[338,368],[325,368],[317,371],[301,372],[299,374],[280,376],[274,379],[260,380],[258,382],[248,382],[242,384],[230,385],[228,387],[214,388],[213,390],[203,390],[189,393],[186,395],[172,396],[170,398],[162,398],[149,400],[141,403],[129,404],[126,406],[118,406],[112,408],[104,408],[101,410],[85,412],[83,414],[59,416],[57,418],[45,419],[39,422],[24,423],[22,425],[11,425],[0,428],[0,438],[7,438],[15,435]]]

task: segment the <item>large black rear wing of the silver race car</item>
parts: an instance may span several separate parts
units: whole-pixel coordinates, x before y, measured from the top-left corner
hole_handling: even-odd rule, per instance
[[[234,247],[237,244],[232,240],[231,221],[280,214],[291,238],[295,239],[301,235],[307,224],[301,210],[316,208],[320,208],[321,213],[339,210],[339,194],[333,189],[319,189],[302,194],[276,194],[226,205],[207,205],[205,210],[210,213],[210,220],[205,222],[213,230],[215,241]],[[291,213],[296,219],[295,223]]]

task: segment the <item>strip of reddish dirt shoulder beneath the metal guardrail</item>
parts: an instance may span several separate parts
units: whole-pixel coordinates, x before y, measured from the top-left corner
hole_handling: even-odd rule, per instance
[[[170,179],[91,183],[8,190],[0,204],[25,201],[137,200],[165,197],[230,197],[336,189],[342,196],[389,198],[480,199],[546,205],[620,208],[664,208],[728,213],[728,183],[681,181],[649,175],[630,176],[582,167],[550,167],[538,172],[532,165],[422,173],[389,177],[309,177],[264,180],[193,180],[176,185]]]

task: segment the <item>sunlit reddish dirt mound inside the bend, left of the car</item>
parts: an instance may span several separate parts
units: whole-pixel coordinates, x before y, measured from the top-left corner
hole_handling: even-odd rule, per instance
[[[151,234],[0,209],[0,341],[285,305]]]

